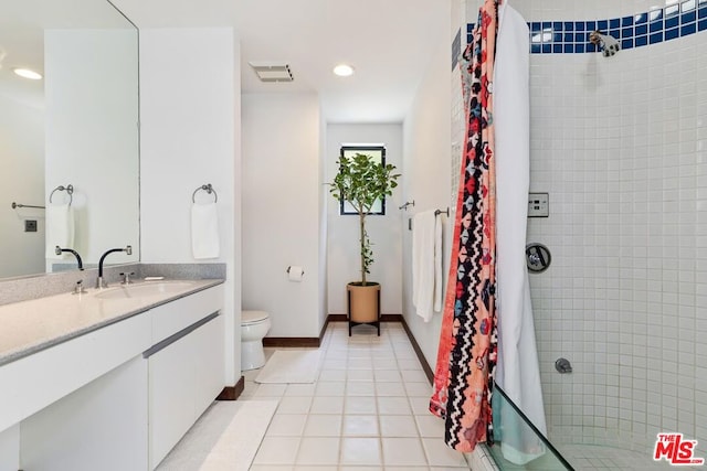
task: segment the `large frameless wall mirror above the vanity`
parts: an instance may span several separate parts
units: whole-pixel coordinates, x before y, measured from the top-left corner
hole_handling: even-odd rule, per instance
[[[46,208],[30,207],[70,199],[84,266],[126,245],[108,261],[139,260],[138,135],[130,21],[106,0],[0,0],[0,278],[76,268],[50,256]]]

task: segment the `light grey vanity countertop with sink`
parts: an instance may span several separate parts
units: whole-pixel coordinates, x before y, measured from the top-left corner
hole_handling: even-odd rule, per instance
[[[223,281],[145,281],[127,289],[116,285],[82,295],[63,293],[0,306],[0,366]],[[150,283],[173,283],[173,289],[155,292],[141,289]],[[130,297],[130,289],[139,291],[139,296]]]

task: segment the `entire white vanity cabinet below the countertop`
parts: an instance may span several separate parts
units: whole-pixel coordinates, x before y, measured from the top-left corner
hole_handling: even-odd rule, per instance
[[[222,285],[146,298],[0,365],[0,471],[155,469],[224,386],[223,299]]]

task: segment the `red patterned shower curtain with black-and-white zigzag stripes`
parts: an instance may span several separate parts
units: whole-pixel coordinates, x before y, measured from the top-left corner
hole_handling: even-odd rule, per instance
[[[493,84],[497,1],[479,10],[464,53],[466,144],[462,156],[452,263],[430,410],[445,419],[445,442],[469,452],[493,441],[490,396],[497,357],[496,185]]]

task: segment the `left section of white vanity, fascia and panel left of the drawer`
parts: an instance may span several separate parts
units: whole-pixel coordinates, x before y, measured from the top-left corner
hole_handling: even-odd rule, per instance
[[[0,388],[3,417],[19,422],[15,471],[145,469],[147,314],[0,368],[1,384],[12,385]]]

